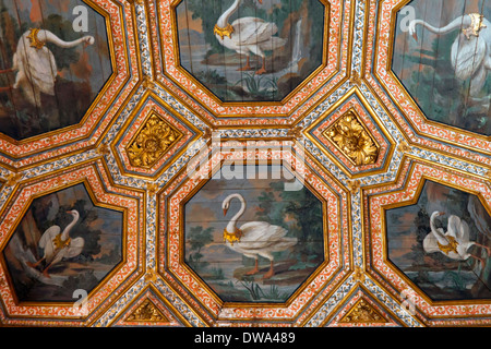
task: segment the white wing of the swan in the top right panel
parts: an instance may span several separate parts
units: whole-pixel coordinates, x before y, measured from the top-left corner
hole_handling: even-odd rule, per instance
[[[483,64],[487,53],[486,40],[480,36],[457,37],[452,46],[452,67],[460,80],[471,77]]]

